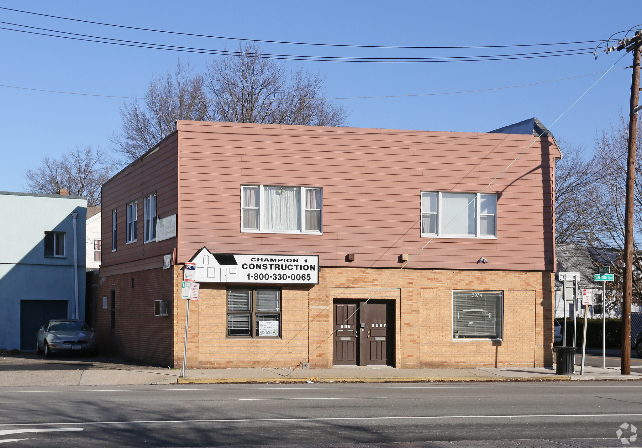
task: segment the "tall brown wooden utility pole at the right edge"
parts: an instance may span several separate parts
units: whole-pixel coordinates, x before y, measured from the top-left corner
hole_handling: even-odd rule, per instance
[[[636,139],[638,137],[638,107],[640,87],[640,40],[641,31],[636,31],[638,41],[633,45],[633,75],[631,78],[631,101],[629,114],[629,159],[627,162],[626,227],[624,230],[624,297],[622,303],[621,374],[631,374],[631,289],[633,283],[633,204],[636,182]]]

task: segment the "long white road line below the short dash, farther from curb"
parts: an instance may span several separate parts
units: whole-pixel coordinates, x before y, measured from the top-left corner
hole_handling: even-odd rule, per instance
[[[153,423],[234,423],[234,422],[315,422],[328,420],[433,420],[449,418],[541,418],[541,417],[642,417],[642,414],[519,414],[519,415],[426,415],[423,417],[292,417],[292,418],[211,418],[207,420],[128,420],[114,422],[5,423],[0,426],[115,425]]]

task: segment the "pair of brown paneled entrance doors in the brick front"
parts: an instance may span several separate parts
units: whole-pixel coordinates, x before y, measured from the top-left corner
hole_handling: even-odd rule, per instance
[[[333,365],[387,365],[394,361],[394,301],[335,300]]]

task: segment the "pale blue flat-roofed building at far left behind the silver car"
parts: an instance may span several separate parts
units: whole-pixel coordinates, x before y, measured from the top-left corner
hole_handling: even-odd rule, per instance
[[[87,198],[60,193],[0,191],[0,349],[35,350],[47,320],[84,319]]]

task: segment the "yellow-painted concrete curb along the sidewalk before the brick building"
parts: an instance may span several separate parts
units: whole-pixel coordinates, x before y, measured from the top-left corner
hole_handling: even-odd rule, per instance
[[[540,375],[537,377],[281,377],[281,378],[178,378],[178,384],[229,383],[472,383],[508,381],[569,381],[568,375]]]

